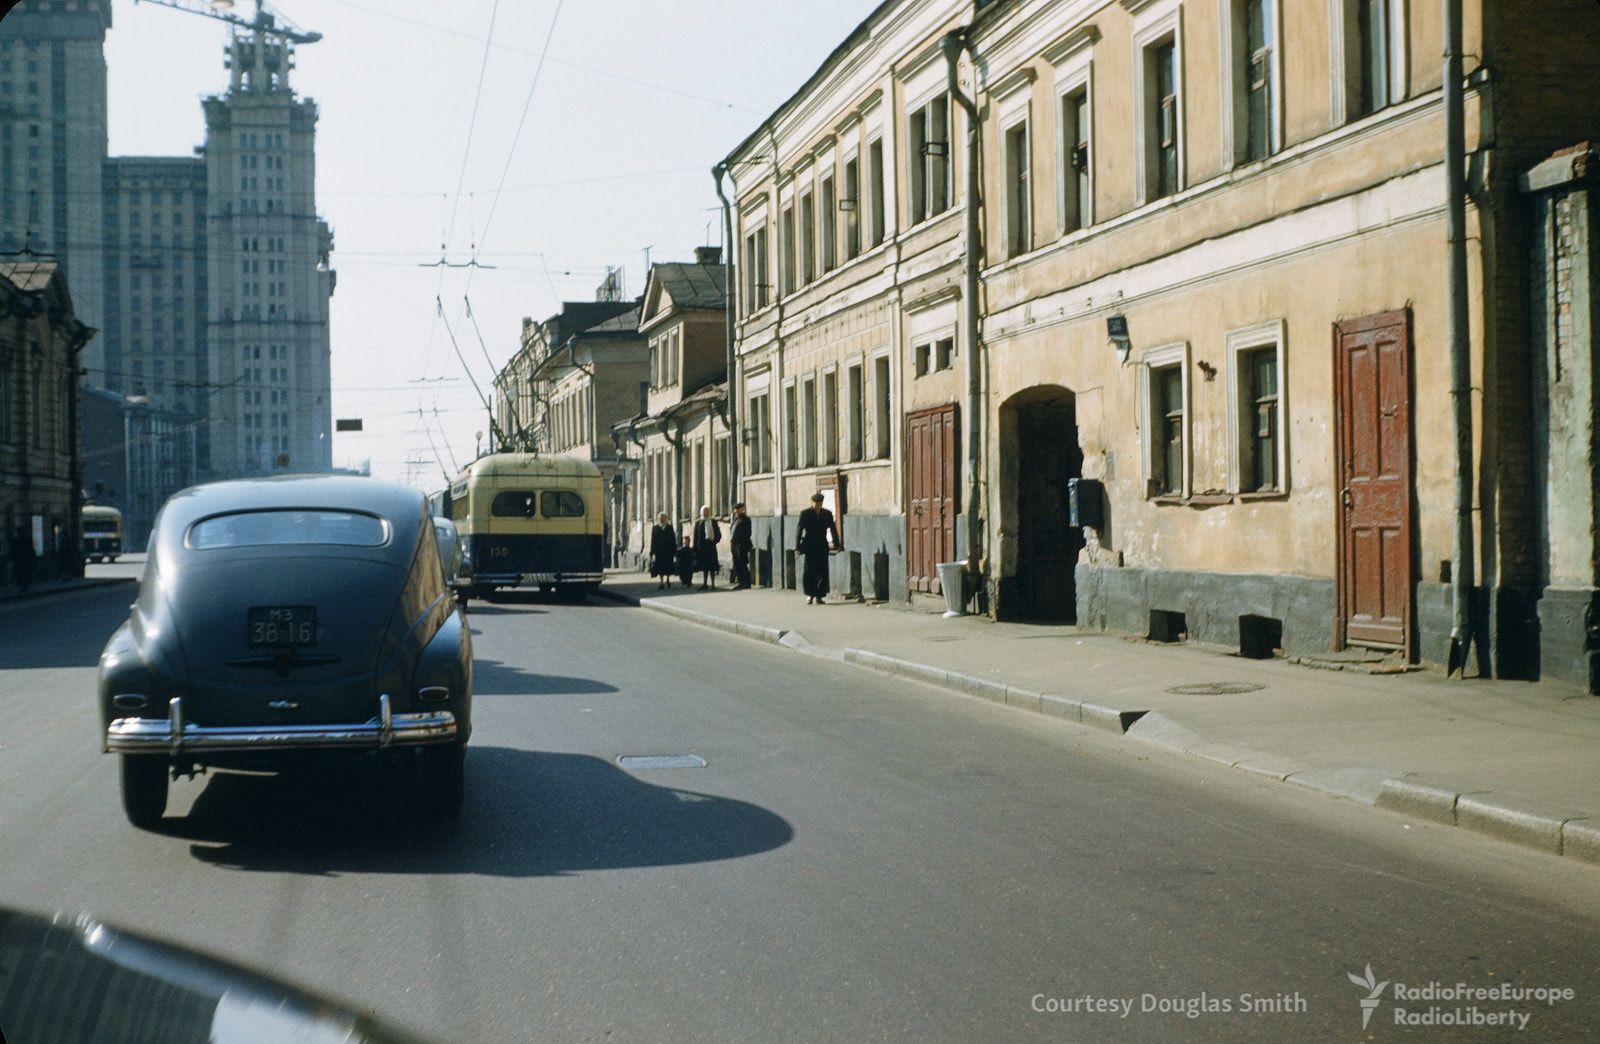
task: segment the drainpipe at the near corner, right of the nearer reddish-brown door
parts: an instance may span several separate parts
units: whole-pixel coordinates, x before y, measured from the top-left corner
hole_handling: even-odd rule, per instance
[[[1450,548],[1450,663],[1467,674],[1472,648],[1472,344],[1467,330],[1466,115],[1461,77],[1461,0],[1443,0],[1445,237],[1450,296],[1450,405],[1456,436],[1456,525]]]

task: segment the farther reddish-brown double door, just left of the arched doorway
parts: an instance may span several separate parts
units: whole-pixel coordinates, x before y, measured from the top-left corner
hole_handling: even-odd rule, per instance
[[[939,592],[955,559],[955,404],[906,418],[906,586]]]

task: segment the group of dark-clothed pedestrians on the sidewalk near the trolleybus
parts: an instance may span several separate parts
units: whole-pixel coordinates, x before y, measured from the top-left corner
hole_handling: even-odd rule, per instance
[[[750,552],[755,551],[755,543],[750,538],[750,517],[744,512],[742,503],[733,506],[731,528],[728,552],[733,557],[733,589],[742,591],[750,586]],[[715,591],[717,573],[722,568],[717,560],[717,544],[720,543],[722,525],[712,516],[710,504],[701,506],[701,517],[694,522],[694,535],[683,536],[682,543],[667,512],[658,514],[656,525],[650,530],[650,575],[656,578],[656,589],[670,588],[674,576],[685,588],[691,588],[694,586],[694,573],[699,573],[701,591]],[[819,605],[827,597],[827,556],[842,546],[834,512],[824,508],[824,496],[814,493],[811,506],[800,512],[795,538],[795,552],[805,562],[802,586],[806,605]]]

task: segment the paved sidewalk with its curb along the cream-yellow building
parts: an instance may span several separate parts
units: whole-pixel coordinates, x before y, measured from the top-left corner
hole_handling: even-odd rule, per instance
[[[1566,687],[1315,669],[922,604],[658,591],[642,573],[600,594],[1600,863],[1600,700]]]

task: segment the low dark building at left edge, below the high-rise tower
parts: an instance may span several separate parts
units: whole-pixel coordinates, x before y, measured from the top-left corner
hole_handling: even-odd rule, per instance
[[[37,578],[83,572],[75,375],[93,336],[72,309],[56,261],[0,258],[0,559],[6,570],[10,541],[22,533],[37,556]]]

